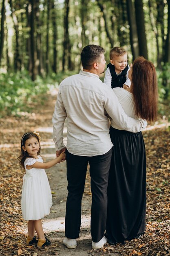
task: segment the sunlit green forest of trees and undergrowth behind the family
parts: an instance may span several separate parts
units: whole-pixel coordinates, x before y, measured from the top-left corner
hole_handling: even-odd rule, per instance
[[[170,0],[1,0],[1,116],[81,69],[88,44],[124,47],[128,63],[144,56],[157,68],[160,101],[170,93]]]

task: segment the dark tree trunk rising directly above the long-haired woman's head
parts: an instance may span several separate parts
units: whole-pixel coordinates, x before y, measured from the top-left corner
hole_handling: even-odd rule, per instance
[[[144,10],[142,0],[135,0],[135,13],[136,13],[136,25],[137,35],[139,43],[139,55],[148,58],[147,41],[145,33],[145,21],[144,21]]]

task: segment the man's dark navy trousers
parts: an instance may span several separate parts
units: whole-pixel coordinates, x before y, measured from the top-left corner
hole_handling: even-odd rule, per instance
[[[91,176],[91,236],[93,242],[102,239],[106,227],[108,172],[112,148],[104,155],[93,157],[73,155],[66,150],[68,196],[66,202],[65,235],[79,237],[81,225],[82,196],[87,165]]]

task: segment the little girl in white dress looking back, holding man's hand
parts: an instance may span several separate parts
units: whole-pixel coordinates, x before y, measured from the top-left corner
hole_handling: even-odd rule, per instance
[[[64,151],[65,152],[65,151]],[[26,132],[21,139],[20,165],[25,169],[23,177],[21,208],[24,220],[28,222],[27,245],[37,244],[38,248],[50,245],[44,236],[41,219],[49,214],[52,205],[51,189],[44,169],[50,168],[66,157],[59,157],[43,163],[40,157],[40,136],[37,132]],[[38,239],[35,237],[35,231]]]

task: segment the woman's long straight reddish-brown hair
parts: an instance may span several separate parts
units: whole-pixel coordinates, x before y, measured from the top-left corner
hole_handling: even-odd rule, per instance
[[[135,102],[135,114],[146,121],[157,118],[157,73],[151,61],[137,57],[132,65],[132,93]]]

